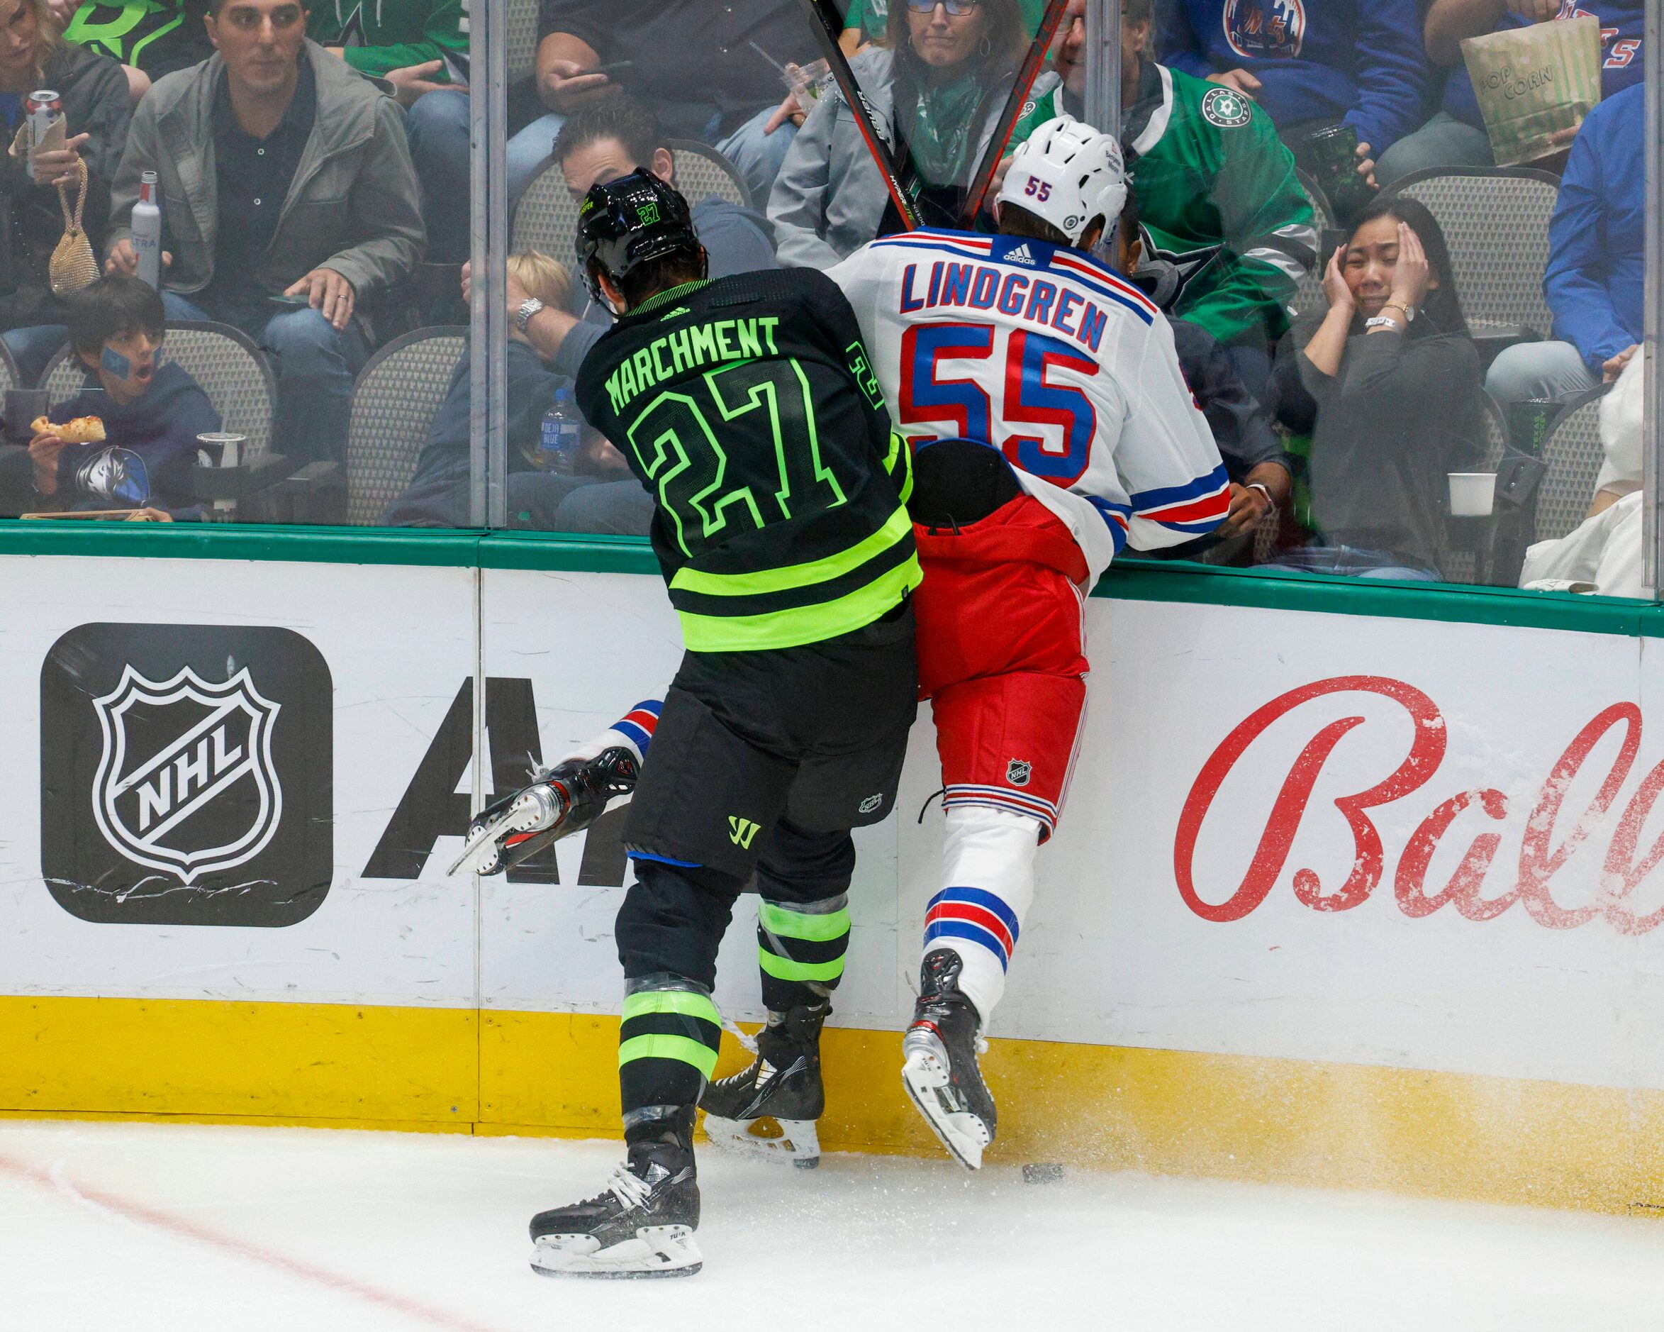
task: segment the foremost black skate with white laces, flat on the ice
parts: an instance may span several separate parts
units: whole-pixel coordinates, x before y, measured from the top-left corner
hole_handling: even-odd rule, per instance
[[[637,1142],[604,1192],[531,1219],[531,1265],[546,1277],[691,1277],[704,1264],[694,1152]]]

